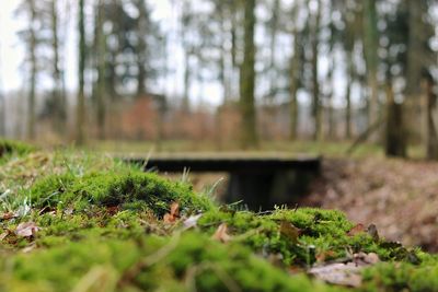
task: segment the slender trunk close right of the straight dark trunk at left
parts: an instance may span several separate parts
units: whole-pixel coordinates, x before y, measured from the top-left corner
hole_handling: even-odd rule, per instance
[[[106,119],[106,37],[103,30],[104,5],[100,0],[97,3],[97,27],[96,27],[96,50],[97,50],[97,92],[96,92],[96,115],[97,115],[97,136],[99,139],[105,139],[105,119]]]

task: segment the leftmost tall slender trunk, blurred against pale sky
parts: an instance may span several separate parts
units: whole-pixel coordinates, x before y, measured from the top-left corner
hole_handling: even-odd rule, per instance
[[[35,132],[35,98],[36,98],[36,78],[37,78],[37,61],[36,61],[36,32],[34,28],[34,23],[36,21],[36,8],[35,1],[30,0],[31,5],[31,43],[30,43],[30,61],[31,61],[31,80],[30,80],[30,91],[28,91],[28,101],[27,101],[27,139],[34,140],[36,132]]]

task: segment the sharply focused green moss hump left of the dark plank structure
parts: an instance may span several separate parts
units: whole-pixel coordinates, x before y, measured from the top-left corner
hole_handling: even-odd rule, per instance
[[[139,171],[100,172],[78,177],[70,173],[51,175],[31,188],[31,199],[38,208],[74,205],[83,210],[90,205],[120,207],[122,209],[149,208],[157,217],[169,212],[177,202],[186,213],[207,211],[212,202],[197,195],[192,186],[171,183],[157,174]]]

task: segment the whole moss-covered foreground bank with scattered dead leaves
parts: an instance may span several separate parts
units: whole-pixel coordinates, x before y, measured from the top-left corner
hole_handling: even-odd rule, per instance
[[[0,149],[0,291],[438,291],[436,256],[338,211],[254,213],[110,156]]]

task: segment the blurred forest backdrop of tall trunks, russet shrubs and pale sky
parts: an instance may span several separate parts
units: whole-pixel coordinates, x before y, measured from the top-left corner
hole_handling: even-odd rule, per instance
[[[438,159],[437,1],[11,2],[22,86],[1,71],[0,136],[217,150],[368,141]]]

